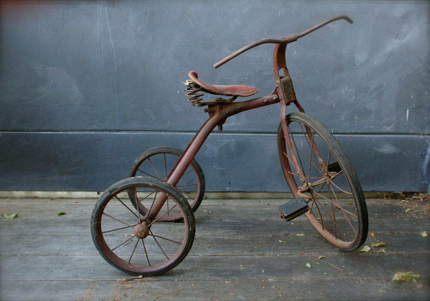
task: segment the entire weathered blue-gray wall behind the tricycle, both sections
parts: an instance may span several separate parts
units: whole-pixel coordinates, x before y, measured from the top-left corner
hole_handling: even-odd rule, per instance
[[[187,103],[194,70],[213,84],[273,90],[264,37],[346,14],[287,48],[307,113],[333,131],[365,191],[428,191],[428,1],[1,1],[0,190],[97,191],[158,145],[186,148],[207,114]],[[233,116],[197,155],[207,191],[288,191],[279,104]]]

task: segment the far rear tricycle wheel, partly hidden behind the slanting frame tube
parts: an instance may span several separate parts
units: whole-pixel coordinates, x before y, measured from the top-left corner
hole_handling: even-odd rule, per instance
[[[133,162],[132,166],[130,167],[129,174],[127,177],[131,178],[131,177],[136,177],[136,175],[137,176],[141,175],[141,176],[154,177],[160,180],[165,180],[169,172],[171,171],[171,169],[174,167],[174,164],[176,163],[176,161],[178,161],[179,157],[181,157],[183,152],[184,150],[173,146],[156,146],[151,149],[148,149],[147,151],[143,152],[141,155],[139,155],[136,158],[136,160]],[[166,154],[171,156],[170,159],[172,162],[170,162],[170,164],[166,164]],[[154,157],[157,155],[163,155],[164,160],[161,160],[161,161],[164,161],[164,162],[160,162],[160,160],[158,160],[158,162],[150,161],[151,164],[145,163],[145,162],[148,162],[148,159],[150,160],[151,157],[154,160]],[[178,157],[178,158],[172,158],[172,157]],[[160,156],[160,158],[162,157]],[[155,160],[157,161],[157,159]],[[154,165],[157,165],[157,163],[158,164],[164,163],[164,164],[161,164],[162,166],[154,166]],[[147,166],[142,164],[147,164]],[[200,204],[202,203],[203,196],[205,194],[206,182],[205,182],[205,175],[203,174],[203,170],[200,167],[200,164],[196,161],[196,159],[193,159],[193,161],[191,161],[190,167],[194,170],[194,175],[196,178],[194,179],[194,176],[192,176],[193,173],[190,173],[188,175],[184,174],[181,180],[179,180],[179,183],[176,185],[176,188],[178,188],[185,196],[185,198],[188,200],[188,202],[190,203],[191,210],[193,212],[196,212],[197,208],[199,208]],[[143,169],[150,169],[150,170],[143,170]],[[192,182],[193,184],[190,185],[190,182]],[[182,189],[182,187],[184,187],[185,189]],[[197,188],[195,191],[193,191],[193,194],[195,193],[194,199],[193,197],[190,197],[188,195],[186,191],[187,188],[192,188],[192,189]],[[132,190],[129,190],[128,194],[129,194],[130,201],[132,202],[133,205],[135,205],[136,204],[135,194],[133,193]],[[140,207],[141,214],[145,214],[147,212],[147,208],[145,208],[144,206],[139,205],[139,207]],[[181,222],[183,220],[182,217],[172,217],[172,216],[163,217],[163,219],[175,220],[176,222]]]

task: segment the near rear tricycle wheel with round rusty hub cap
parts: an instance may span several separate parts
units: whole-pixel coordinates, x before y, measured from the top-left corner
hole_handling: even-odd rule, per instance
[[[155,196],[158,192],[167,195],[176,205],[170,210],[180,211],[184,222],[147,221],[135,208],[126,205],[128,197],[123,192],[127,189],[154,190]],[[147,221],[149,233],[139,239],[134,230],[143,221]],[[98,252],[118,270],[133,275],[154,276],[176,267],[190,251],[195,231],[194,214],[181,192],[151,177],[133,177],[115,183],[101,195],[91,215],[91,235]]]

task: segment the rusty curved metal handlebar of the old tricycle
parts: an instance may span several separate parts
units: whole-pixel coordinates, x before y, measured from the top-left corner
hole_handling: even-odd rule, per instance
[[[331,22],[340,20],[340,19],[345,19],[348,22],[350,22],[351,24],[353,23],[353,20],[350,19],[350,17],[345,16],[345,15],[340,15],[340,16],[335,16],[333,18],[327,19],[324,22],[321,22],[303,32],[301,32],[300,34],[292,34],[288,37],[284,37],[281,40],[275,40],[275,39],[262,39],[262,40],[258,40],[255,41],[254,43],[251,43],[245,47],[240,48],[239,50],[233,52],[232,54],[230,54],[229,56],[225,57],[224,59],[221,59],[221,61],[217,62],[214,64],[215,68],[218,68],[221,65],[224,65],[226,62],[230,61],[230,59],[234,59],[236,56],[244,53],[246,50],[250,50],[251,48],[254,48],[256,46],[262,45],[262,44],[266,44],[266,43],[272,43],[272,44],[287,44],[287,43],[292,43],[297,41],[299,38],[304,37],[307,34],[310,34],[312,31],[316,31],[318,28],[321,28],[324,25],[327,25]]]

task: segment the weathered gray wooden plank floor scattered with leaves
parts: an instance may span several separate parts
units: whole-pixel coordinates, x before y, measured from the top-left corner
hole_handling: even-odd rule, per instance
[[[0,218],[0,300],[430,300],[430,237],[419,234],[430,233],[426,201],[367,200],[374,237],[365,244],[386,242],[382,254],[342,252],[304,217],[280,220],[283,200],[206,199],[187,258],[166,274],[125,283],[129,275],[107,264],[92,242],[95,202],[0,199],[1,212],[18,212]],[[408,271],[423,276],[392,282]]]

